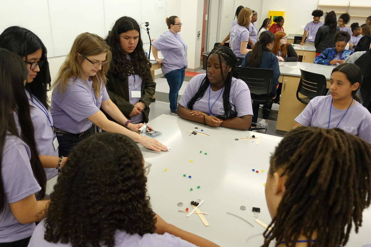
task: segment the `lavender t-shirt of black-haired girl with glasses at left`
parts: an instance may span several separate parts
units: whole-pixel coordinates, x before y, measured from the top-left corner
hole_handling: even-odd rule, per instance
[[[54,149],[53,140],[56,138],[52,130],[53,119],[49,109],[46,109],[40,101],[26,90],[28,102],[31,107],[31,120],[35,130],[35,141],[40,155],[58,157],[58,148]],[[49,122],[50,121],[50,122]],[[44,168],[46,180],[58,175],[56,168]]]

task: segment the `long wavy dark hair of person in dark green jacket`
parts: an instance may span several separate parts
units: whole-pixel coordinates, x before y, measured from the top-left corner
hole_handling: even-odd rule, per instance
[[[120,46],[120,34],[130,30],[137,30],[139,33],[138,45],[135,47],[134,51],[130,53],[131,60],[126,58]],[[128,16],[119,18],[106,37],[106,42],[112,50],[109,73],[115,74],[123,80],[125,77],[132,74],[139,75],[143,80],[151,77],[150,62],[147,57],[145,57],[140,27],[136,20]]]

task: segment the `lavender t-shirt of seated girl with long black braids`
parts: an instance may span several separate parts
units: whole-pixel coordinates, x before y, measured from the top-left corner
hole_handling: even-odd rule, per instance
[[[185,108],[188,108],[188,102],[197,93],[201,86],[202,80],[205,78],[206,74],[198,74],[194,76],[187,87],[185,88],[184,94],[179,101],[179,104]],[[204,113],[210,114],[209,105],[211,108],[211,114],[213,115],[224,115],[224,105],[223,105],[223,89],[218,91],[213,91],[210,86],[205,91],[204,95],[200,100],[197,100],[193,105],[193,110],[202,111]],[[209,91],[210,91],[210,101],[209,101]],[[220,97],[219,97],[220,95]],[[219,98],[218,98],[219,97]],[[210,102],[210,103],[209,103]],[[215,103],[214,103],[215,102]],[[237,111],[237,117],[242,117],[245,115],[253,115],[251,96],[249,87],[243,80],[236,79],[232,77],[232,85],[230,89],[229,102],[231,102],[232,110]]]

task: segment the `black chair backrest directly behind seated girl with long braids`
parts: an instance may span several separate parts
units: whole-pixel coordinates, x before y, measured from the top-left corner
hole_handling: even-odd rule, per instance
[[[273,70],[237,67],[240,77],[249,86],[251,99],[256,103],[272,100]]]

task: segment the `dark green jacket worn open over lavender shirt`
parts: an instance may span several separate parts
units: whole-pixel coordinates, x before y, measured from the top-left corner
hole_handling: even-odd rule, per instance
[[[119,78],[116,75],[107,74],[107,85],[106,89],[108,92],[109,98],[113,103],[118,107],[122,114],[130,119],[129,114],[134,109],[134,105],[129,102],[129,81],[128,77],[125,77],[124,80]],[[152,96],[155,94],[156,83],[152,81],[152,76],[148,78],[142,78],[142,97],[139,99],[139,102],[145,104],[145,109],[143,113],[143,122],[148,123],[148,114],[150,113],[150,104],[152,102]],[[107,116],[107,114],[106,114]],[[107,116],[109,120],[114,121],[111,117]]]

